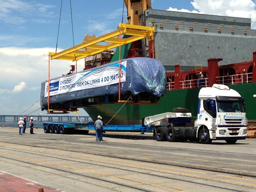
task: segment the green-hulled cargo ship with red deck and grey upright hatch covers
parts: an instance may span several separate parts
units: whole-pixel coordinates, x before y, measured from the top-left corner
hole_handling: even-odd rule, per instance
[[[238,91],[246,102],[247,119],[256,119],[256,30],[250,28],[249,18],[155,10],[151,0],[125,0],[125,5],[126,23],[154,28],[153,35],[122,45],[114,54],[84,57],[84,70],[118,59],[156,58],[166,70],[166,95],[156,103],[116,100],[80,105],[92,119],[101,115],[108,124],[140,124],[145,116],[183,107],[196,117],[200,88],[214,83]],[[83,42],[92,40],[85,38]],[[90,49],[100,48],[89,46],[87,51]]]

